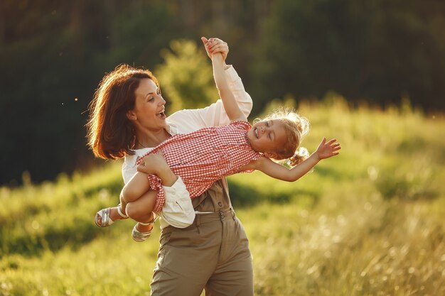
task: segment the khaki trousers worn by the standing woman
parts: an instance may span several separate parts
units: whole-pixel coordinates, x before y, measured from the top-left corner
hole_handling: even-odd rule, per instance
[[[252,296],[249,241],[232,209],[197,214],[191,226],[168,226],[160,238],[154,296]]]

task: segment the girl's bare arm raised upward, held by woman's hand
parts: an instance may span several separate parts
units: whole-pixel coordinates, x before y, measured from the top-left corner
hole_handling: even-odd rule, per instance
[[[223,55],[220,53],[214,53],[212,55],[212,65],[213,65],[213,77],[215,78],[216,87],[220,93],[220,98],[223,101],[223,106],[225,113],[229,117],[230,121],[247,121],[246,116],[240,110],[237,104],[235,96],[229,88],[227,79],[224,75],[224,65]]]

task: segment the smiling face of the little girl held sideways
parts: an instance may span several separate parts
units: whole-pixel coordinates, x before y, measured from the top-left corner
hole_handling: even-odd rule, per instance
[[[286,130],[279,119],[259,121],[247,132],[247,139],[252,148],[262,152],[266,157],[274,158],[269,153],[275,153],[286,143]]]

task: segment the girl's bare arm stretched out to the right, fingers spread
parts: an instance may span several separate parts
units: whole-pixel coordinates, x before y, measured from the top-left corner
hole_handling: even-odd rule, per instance
[[[323,138],[317,150],[309,156],[306,160],[294,168],[286,168],[279,163],[274,163],[272,160],[266,157],[261,157],[258,160],[254,160],[252,163],[245,165],[241,170],[260,170],[264,174],[274,177],[275,179],[294,182],[299,180],[300,177],[306,175],[320,160],[330,158],[338,155],[338,150],[341,149],[339,143],[336,143],[336,139],[332,139],[326,143],[326,138]]]

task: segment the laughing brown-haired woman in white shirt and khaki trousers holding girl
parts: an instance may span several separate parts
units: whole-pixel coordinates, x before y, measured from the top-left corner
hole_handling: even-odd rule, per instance
[[[207,39],[202,40],[204,45],[208,43]],[[226,57],[229,51],[227,43],[216,38],[214,45],[205,49],[209,57],[212,53]],[[247,117],[252,99],[232,66],[225,66],[225,75]],[[229,123],[220,100],[204,109],[182,110],[166,118],[163,114],[166,102],[149,71],[127,67],[120,69],[119,75],[113,76],[112,72],[106,78],[90,106],[89,143],[95,155],[102,158],[125,157],[124,182],[136,172],[136,158],[167,138]],[[158,170],[154,173],[163,179],[166,199],[179,196],[190,201],[181,179],[173,175],[161,158],[152,160]],[[135,229],[143,234],[151,228],[144,224],[151,223],[154,217],[138,216],[138,209],[146,207],[146,200],[141,199],[138,204],[122,207],[126,213],[121,214],[139,221]],[[232,210],[226,180],[215,182],[192,203],[195,217],[186,228],[173,227],[161,216],[161,246],[151,295],[198,296],[203,289],[207,295],[253,295],[252,256],[245,230]],[[112,219],[119,219],[117,208],[107,213]],[[102,219],[98,219],[99,223]]]

